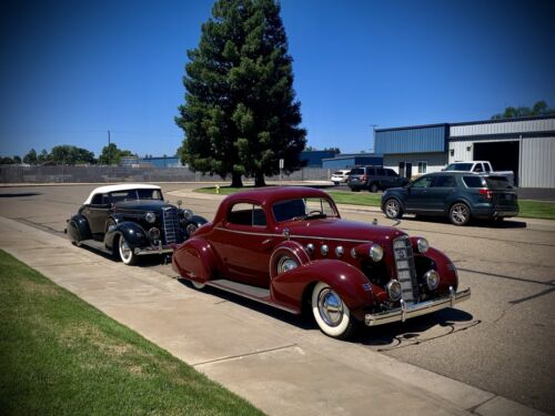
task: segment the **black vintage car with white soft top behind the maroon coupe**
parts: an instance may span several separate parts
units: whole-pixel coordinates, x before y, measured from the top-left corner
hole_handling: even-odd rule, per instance
[[[68,220],[65,232],[75,245],[134,264],[141,255],[173,252],[205,223],[190,210],[164,202],[160,186],[123,184],[93,190]]]

